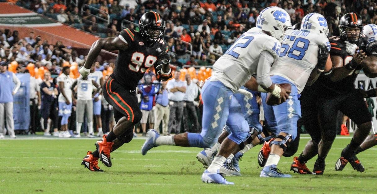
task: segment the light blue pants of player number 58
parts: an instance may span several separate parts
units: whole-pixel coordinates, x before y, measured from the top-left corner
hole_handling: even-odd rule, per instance
[[[280,132],[291,134],[292,140],[294,140],[297,136],[297,120],[301,118],[301,106],[298,100],[297,88],[293,83],[281,76],[271,76],[271,80],[277,84],[289,83],[291,85],[291,94],[286,102],[276,106],[267,105],[267,93],[261,94],[267,128],[275,135]]]

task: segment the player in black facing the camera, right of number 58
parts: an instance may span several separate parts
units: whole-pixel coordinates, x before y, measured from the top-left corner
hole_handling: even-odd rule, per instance
[[[334,70],[329,74],[322,74],[310,91],[302,92],[301,105],[307,105],[301,107],[302,118],[307,118],[303,122],[312,139],[301,155],[294,159],[291,170],[297,173],[310,173],[308,170],[300,171],[297,166],[306,168],[306,162],[318,154],[313,174],[323,174],[325,158],[336,137],[336,117],[339,111],[351,118],[358,127],[342,156],[354,169],[364,171],[355,152],[369,134],[371,115],[364,102],[363,92],[354,86],[357,74],[363,67],[360,64],[367,57],[363,52],[365,49],[362,49],[365,47],[361,38],[362,27],[361,18],[357,14],[343,15],[339,22],[340,36],[329,38]]]

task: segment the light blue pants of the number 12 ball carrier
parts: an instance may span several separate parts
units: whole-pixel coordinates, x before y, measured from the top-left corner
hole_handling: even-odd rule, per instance
[[[231,126],[234,132],[231,140],[241,143],[246,139],[246,135],[239,130],[249,131],[247,121],[242,115],[238,101],[233,97],[233,92],[220,81],[207,80],[202,88],[203,118],[202,132],[188,133],[190,147],[209,148],[215,142],[225,124]],[[233,106],[231,106],[231,104]],[[241,134],[241,135],[240,135]],[[243,137],[244,136],[244,137]]]

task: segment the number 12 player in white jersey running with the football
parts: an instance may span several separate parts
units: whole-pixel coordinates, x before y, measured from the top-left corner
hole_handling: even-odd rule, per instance
[[[245,85],[249,88],[248,80],[253,74],[257,74],[261,91],[272,92],[278,98],[288,97],[290,91],[271,81],[270,68],[280,55],[280,42],[289,27],[291,20],[284,9],[264,9],[261,12],[259,29],[243,33],[213,65],[212,77],[202,88],[202,132],[159,136],[155,130],[149,130],[142,154],[145,155],[148,150],[161,145],[209,148],[216,143],[222,128],[227,124],[232,133],[222,142],[219,155],[202,174],[202,181],[234,184],[225,180],[219,169],[231,153],[240,149],[239,144],[247,139],[250,128],[241,109],[230,109],[231,103],[238,103],[236,98],[232,98],[233,94],[242,92],[251,97],[250,92],[240,90],[240,87]]]

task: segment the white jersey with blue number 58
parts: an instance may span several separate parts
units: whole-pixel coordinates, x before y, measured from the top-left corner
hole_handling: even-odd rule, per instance
[[[290,80],[300,94],[317,65],[318,46],[324,45],[330,50],[330,42],[322,35],[300,30],[288,30],[284,42],[270,74]]]

